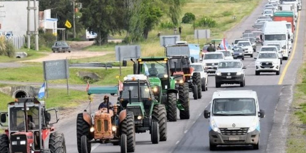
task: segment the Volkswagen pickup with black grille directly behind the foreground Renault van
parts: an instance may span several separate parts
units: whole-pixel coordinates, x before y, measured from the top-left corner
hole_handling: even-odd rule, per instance
[[[244,69],[241,60],[221,60],[215,74],[216,88],[220,88],[222,84],[240,84],[245,86]]]

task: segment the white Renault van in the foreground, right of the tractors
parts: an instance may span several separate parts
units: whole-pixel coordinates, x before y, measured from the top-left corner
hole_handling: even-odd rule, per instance
[[[217,145],[253,145],[259,149],[260,118],[265,112],[259,110],[255,91],[216,91],[209,106],[204,118],[209,118],[210,150]]]

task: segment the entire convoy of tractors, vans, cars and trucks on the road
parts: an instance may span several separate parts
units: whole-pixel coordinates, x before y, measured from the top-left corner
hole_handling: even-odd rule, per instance
[[[88,89],[89,109],[76,117],[78,152],[90,153],[94,143],[112,143],[120,146],[121,153],[134,152],[135,133],[147,131],[152,144],[166,141],[167,121],[177,121],[177,110],[180,119],[190,118],[189,92],[193,99],[201,99],[202,91],[208,90],[207,73],[215,73],[216,88],[222,84],[245,86],[246,67],[241,60],[252,58],[258,44],[263,46],[255,57],[256,75],[279,75],[282,60],[287,60],[291,51],[300,9],[297,0],[269,0],[263,16],[242,38],[228,45],[228,50],[202,55],[199,45],[180,41],[166,46],[164,57],[131,59],[133,72],[123,78],[122,91],[118,87]],[[127,65],[127,61],[122,63]],[[107,106],[93,112],[93,94],[118,94],[118,102],[111,105],[107,97]],[[55,116],[51,118],[51,114]],[[255,91],[214,92],[204,110],[204,117],[209,118],[210,149],[218,145],[259,149],[260,118],[264,116]],[[63,133],[52,126],[58,122],[57,110],[47,110],[43,101],[16,99],[0,117],[1,126],[7,126],[0,135],[1,153],[66,153]]]

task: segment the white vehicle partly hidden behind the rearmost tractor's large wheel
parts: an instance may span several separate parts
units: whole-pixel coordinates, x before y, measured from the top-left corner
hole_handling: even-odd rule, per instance
[[[208,75],[205,69],[206,65],[204,63],[191,63],[190,65],[194,69],[191,76],[193,76],[193,73],[196,73],[196,72],[200,73],[202,91],[207,91]]]

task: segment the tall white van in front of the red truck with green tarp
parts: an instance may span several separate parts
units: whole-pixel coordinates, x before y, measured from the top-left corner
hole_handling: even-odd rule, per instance
[[[291,44],[290,35],[288,35],[285,22],[272,21],[265,23],[263,28],[263,45],[266,46],[267,43],[281,43],[282,48],[285,49],[283,52],[284,60],[289,58],[289,42]]]

